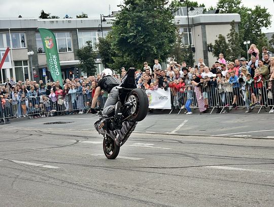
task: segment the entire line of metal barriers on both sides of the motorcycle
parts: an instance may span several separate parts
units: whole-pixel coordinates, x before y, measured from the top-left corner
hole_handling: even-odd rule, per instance
[[[274,112],[274,80],[265,82],[228,82],[200,83],[197,86],[186,85],[181,88],[170,87],[172,109],[180,109],[178,114],[185,108],[196,109],[204,103],[206,108],[214,109],[222,113],[237,107],[245,107],[252,110],[254,107],[261,109],[269,107]],[[102,92],[96,106],[103,108],[108,98],[107,92]],[[1,98],[0,119],[4,122],[12,117],[43,117],[73,113],[88,113],[91,107],[92,93],[79,92],[65,95],[50,94],[49,96],[21,96],[12,94],[10,97]],[[203,106],[202,106],[203,107]],[[270,112],[269,111],[269,112]]]

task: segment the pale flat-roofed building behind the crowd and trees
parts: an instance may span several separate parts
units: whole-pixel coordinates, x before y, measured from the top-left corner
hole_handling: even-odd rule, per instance
[[[0,84],[7,78],[13,77],[15,81],[45,80],[45,75],[50,78],[47,70],[46,55],[38,28],[48,28],[55,34],[59,53],[61,72],[63,79],[72,78],[74,69],[79,64],[76,50],[85,45],[86,41],[92,41],[96,50],[96,42],[101,35],[107,35],[111,31],[111,21],[114,17],[100,19],[70,18],[70,19],[35,19],[35,18],[10,18],[0,19],[0,57],[4,56],[9,47],[10,53],[0,70]],[[183,33],[183,43],[191,44],[196,62],[203,58],[207,65],[215,62],[215,58],[208,51],[208,44],[214,43],[219,34],[227,35],[230,22],[240,22],[238,14],[194,14],[189,16],[175,16],[178,29]],[[99,31],[100,24],[102,31]],[[188,38],[190,33],[190,40]],[[33,51],[29,56],[28,51]],[[9,64],[10,63],[10,64]],[[97,72],[102,71],[102,64],[96,60]],[[32,68],[31,68],[32,67]],[[43,74],[43,71],[46,74]]]

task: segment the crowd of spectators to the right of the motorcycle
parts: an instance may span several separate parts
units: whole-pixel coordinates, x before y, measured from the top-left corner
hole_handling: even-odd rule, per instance
[[[173,107],[185,108],[186,114],[192,114],[189,106],[193,104],[200,113],[207,112],[209,107],[216,107],[217,113],[226,113],[239,106],[244,106],[246,113],[256,106],[269,106],[269,113],[273,113],[274,57],[266,47],[260,54],[254,44],[248,53],[249,62],[245,57],[227,61],[220,53],[212,67],[206,66],[202,58],[194,67],[186,62],[180,65],[170,58],[166,70],[161,69],[158,60],[153,69],[145,62],[143,71],[136,72],[136,83],[144,90],[169,87]]]

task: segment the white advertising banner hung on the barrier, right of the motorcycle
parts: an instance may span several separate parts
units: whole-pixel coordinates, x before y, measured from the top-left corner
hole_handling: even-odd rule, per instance
[[[149,108],[171,109],[170,88],[165,91],[162,88],[146,91],[149,99]]]

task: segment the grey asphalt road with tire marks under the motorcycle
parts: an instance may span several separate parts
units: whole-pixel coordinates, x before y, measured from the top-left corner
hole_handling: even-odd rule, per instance
[[[0,206],[272,206],[273,116],[228,115],[149,114],[115,160],[89,114],[0,126]]]

